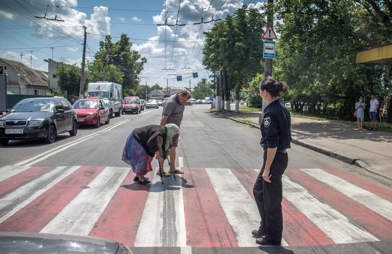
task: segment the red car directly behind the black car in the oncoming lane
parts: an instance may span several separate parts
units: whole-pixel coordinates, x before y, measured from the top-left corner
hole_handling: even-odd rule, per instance
[[[78,124],[90,124],[98,128],[101,123],[110,122],[109,109],[105,102],[98,98],[79,99],[72,106],[76,110]]]

